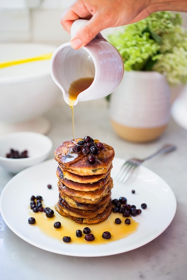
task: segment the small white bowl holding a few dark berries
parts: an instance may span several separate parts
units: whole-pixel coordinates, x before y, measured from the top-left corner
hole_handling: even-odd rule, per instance
[[[10,149],[28,151],[27,158],[7,158]],[[52,141],[45,135],[36,132],[15,132],[0,137],[0,166],[11,173],[40,163],[47,159],[52,149]]]

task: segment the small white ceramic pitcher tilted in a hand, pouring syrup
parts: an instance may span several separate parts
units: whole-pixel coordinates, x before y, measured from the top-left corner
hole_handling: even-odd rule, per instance
[[[71,26],[71,37],[87,20],[75,20]],[[99,99],[112,93],[120,84],[124,64],[119,51],[99,33],[85,47],[75,50],[71,43],[59,46],[51,58],[51,76],[62,90],[68,104],[68,89],[72,82],[93,77],[89,88],[81,92],[74,102]]]

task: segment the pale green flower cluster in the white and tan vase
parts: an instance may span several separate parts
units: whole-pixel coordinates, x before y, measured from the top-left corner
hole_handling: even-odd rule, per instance
[[[122,26],[108,41],[122,55],[125,71],[157,71],[171,85],[187,82],[187,30],[180,14],[153,13]]]

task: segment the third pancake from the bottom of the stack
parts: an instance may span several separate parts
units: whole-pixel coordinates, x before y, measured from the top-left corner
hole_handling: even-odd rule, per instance
[[[74,201],[68,195],[62,195],[62,194],[59,195],[59,199],[61,199],[61,198],[65,199],[65,201],[67,201],[69,206],[71,206],[73,208],[78,208],[78,209],[82,209],[82,210],[92,210],[92,211],[97,211],[100,208],[101,205],[103,205],[107,201],[109,202],[110,197],[111,197],[111,192],[109,192],[109,194],[104,196],[101,199],[101,201],[97,204],[85,204],[85,203],[78,203],[78,202]]]

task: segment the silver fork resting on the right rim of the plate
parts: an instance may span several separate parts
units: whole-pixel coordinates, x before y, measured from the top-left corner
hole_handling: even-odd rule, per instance
[[[124,183],[130,176],[132,171],[134,171],[135,168],[138,167],[139,165],[141,165],[145,160],[148,160],[148,159],[156,156],[157,154],[164,154],[164,153],[171,152],[174,150],[176,150],[176,146],[167,144],[167,145],[164,145],[158,151],[156,151],[154,154],[151,154],[149,157],[146,157],[142,160],[139,158],[131,158],[122,165],[121,169],[119,170],[119,173],[117,173],[117,175],[114,177],[114,179],[116,179],[119,182]]]

